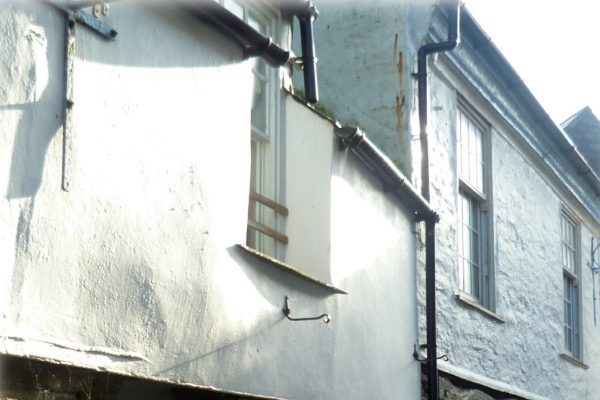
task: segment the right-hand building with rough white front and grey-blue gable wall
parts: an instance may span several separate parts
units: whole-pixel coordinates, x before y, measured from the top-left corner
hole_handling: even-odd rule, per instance
[[[418,186],[413,74],[420,46],[448,37],[444,5],[321,10],[323,104]],[[466,10],[460,27],[459,47],[428,62],[440,398],[596,399],[600,180]],[[421,266],[420,344],[424,280]]]

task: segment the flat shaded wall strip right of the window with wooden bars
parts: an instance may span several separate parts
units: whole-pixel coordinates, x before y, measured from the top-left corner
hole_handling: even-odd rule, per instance
[[[331,122],[286,102],[285,260],[326,282],[331,281],[331,173],[337,142]],[[293,108],[293,111],[291,109]]]

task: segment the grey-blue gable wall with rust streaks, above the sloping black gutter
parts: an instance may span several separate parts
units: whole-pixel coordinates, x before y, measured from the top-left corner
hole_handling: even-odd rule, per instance
[[[321,102],[344,125],[360,126],[407,176],[415,107],[415,43],[427,32],[431,1],[325,0],[315,41]],[[406,21],[411,21],[407,24]],[[417,38],[417,39],[415,39]]]

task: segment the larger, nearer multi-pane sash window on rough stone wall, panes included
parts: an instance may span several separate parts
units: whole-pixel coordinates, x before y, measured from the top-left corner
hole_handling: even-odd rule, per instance
[[[480,137],[476,151],[464,145],[461,122],[468,120]],[[468,130],[469,128],[467,128]],[[456,113],[456,155],[458,176],[458,283],[461,297],[495,311],[495,279],[493,267],[493,224],[491,209],[491,146],[490,125],[462,97],[458,97]],[[471,132],[469,132],[471,133]],[[464,152],[475,153],[473,162],[467,163]],[[461,166],[475,163],[479,172],[464,171]],[[467,175],[467,176],[464,176]],[[475,181],[473,181],[475,176]],[[465,209],[465,204],[466,209]],[[468,218],[467,215],[468,214]],[[476,239],[473,239],[473,238]],[[473,241],[475,243],[473,243]],[[466,254],[466,249],[468,253]],[[475,259],[475,257],[477,259]],[[477,275],[477,276],[474,276]]]

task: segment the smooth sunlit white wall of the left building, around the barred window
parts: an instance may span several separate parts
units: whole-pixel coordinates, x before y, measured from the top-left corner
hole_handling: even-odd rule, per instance
[[[0,351],[289,399],[418,398],[396,199],[287,98],[288,261],[349,294],[245,254],[250,64],[175,11],[119,2],[106,22],[114,43],[77,32],[64,192],[63,17],[0,9]],[[284,319],[286,295],[333,322]]]

